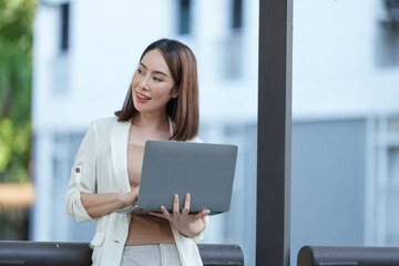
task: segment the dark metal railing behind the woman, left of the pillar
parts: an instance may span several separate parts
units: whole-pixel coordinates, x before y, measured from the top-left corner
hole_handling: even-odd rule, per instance
[[[244,254],[237,245],[198,245],[204,266],[242,266]],[[90,266],[89,243],[0,242],[0,266]]]

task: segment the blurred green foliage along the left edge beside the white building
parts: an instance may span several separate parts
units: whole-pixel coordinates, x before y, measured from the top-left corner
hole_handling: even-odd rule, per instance
[[[0,182],[29,181],[34,0],[0,0]]]

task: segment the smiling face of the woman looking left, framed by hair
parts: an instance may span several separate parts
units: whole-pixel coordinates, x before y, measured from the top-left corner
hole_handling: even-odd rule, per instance
[[[139,64],[132,80],[134,108],[141,113],[166,112],[166,103],[177,96],[175,82],[158,49],[147,52]]]

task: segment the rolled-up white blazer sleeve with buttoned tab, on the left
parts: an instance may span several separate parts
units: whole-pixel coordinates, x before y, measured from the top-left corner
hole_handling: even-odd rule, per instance
[[[66,213],[79,223],[92,219],[82,204],[81,193],[96,193],[96,157],[98,133],[93,122],[79,147],[63,196]]]

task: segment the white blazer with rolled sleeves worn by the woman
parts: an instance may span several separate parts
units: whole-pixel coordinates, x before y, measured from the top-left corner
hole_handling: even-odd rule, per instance
[[[171,123],[171,132],[172,132]],[[131,191],[127,176],[127,140],[130,123],[116,117],[92,122],[76,153],[71,178],[63,196],[69,215],[76,222],[91,221],[81,202],[81,193],[126,193]],[[193,140],[201,142],[200,139]],[[95,218],[95,235],[90,243],[95,266],[119,266],[127,238],[131,214],[111,213]],[[207,219],[204,219],[205,226]],[[202,266],[196,243],[204,232],[194,238],[183,236],[172,223],[172,232],[183,266]]]

